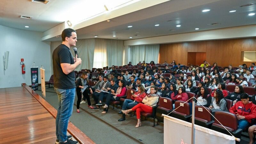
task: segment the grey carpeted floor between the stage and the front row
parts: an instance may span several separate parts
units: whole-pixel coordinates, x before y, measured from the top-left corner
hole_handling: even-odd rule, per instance
[[[41,87],[39,86],[38,89],[36,92],[42,95]],[[57,109],[58,98],[53,87],[46,88],[46,101]],[[100,110],[92,110],[87,107],[87,101],[85,104],[80,104],[80,113],[77,113],[76,101],[77,97],[75,98],[70,121],[97,144],[164,143],[163,124],[152,127],[153,122],[149,119],[142,121],[141,127],[135,128],[137,124],[136,116],[126,116],[125,121],[118,122],[117,120],[121,115],[117,114],[117,112],[120,111],[120,108],[113,109],[113,106],[110,106],[108,113],[101,114],[102,108]],[[94,103],[92,98],[91,103]],[[244,132],[243,134],[248,135]],[[249,139],[242,136],[240,144],[247,144],[248,142]]]

